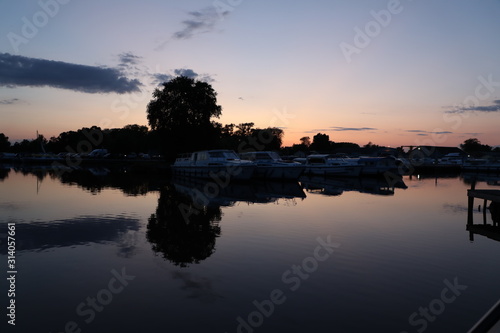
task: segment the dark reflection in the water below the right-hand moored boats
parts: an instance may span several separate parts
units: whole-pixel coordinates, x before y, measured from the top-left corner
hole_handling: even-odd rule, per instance
[[[345,177],[332,178],[321,176],[302,176],[300,182],[307,192],[323,195],[341,195],[344,191],[357,191],[377,195],[394,195],[395,188],[406,189],[403,179]]]

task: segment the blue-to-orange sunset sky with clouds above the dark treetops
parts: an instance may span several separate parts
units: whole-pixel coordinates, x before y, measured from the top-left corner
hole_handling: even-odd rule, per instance
[[[183,74],[219,122],[286,145],[500,145],[499,18],[499,0],[0,0],[0,133],[147,125]]]

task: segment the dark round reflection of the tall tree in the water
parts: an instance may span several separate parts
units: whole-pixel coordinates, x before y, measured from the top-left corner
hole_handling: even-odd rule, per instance
[[[186,213],[186,207],[196,213]],[[188,197],[179,195],[173,185],[167,185],[160,191],[156,213],[148,219],[146,237],[153,251],[177,266],[187,267],[214,253],[221,218],[219,206],[195,207]]]

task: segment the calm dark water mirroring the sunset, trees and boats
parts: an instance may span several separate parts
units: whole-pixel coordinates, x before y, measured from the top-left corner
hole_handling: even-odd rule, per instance
[[[6,279],[1,325],[465,332],[500,297],[500,243],[470,240],[470,179],[403,181],[211,186],[148,172],[2,169],[0,260],[5,276],[15,223],[17,275],[16,326],[7,325]]]

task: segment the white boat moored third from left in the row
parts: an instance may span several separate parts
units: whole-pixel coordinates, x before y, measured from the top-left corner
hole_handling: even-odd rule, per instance
[[[355,159],[336,158],[328,154],[307,156],[305,167],[305,174],[317,176],[357,177],[362,169]]]

